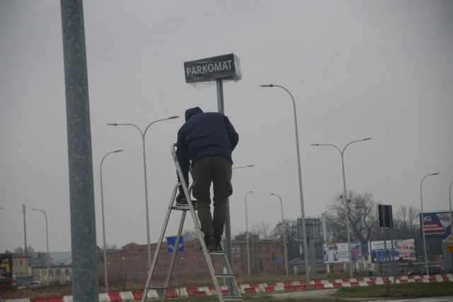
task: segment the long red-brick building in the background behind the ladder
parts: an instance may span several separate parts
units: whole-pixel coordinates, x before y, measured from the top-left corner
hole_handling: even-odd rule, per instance
[[[232,257],[234,260],[234,272],[236,276],[246,276],[247,274],[247,248],[244,236],[237,236],[232,242]],[[151,255],[154,256],[157,243],[151,244]],[[282,240],[259,239],[258,236],[251,236],[249,242],[251,273],[273,273],[285,274],[285,257]],[[281,261],[277,262],[277,256]],[[212,256],[213,265],[216,272],[222,272],[223,265],[219,256]],[[219,257],[218,260],[214,257]],[[148,256],[147,245],[129,243],[120,250],[107,251],[108,280],[110,282],[122,281],[144,281],[147,279]],[[167,251],[166,243],[162,243],[159,260],[156,266],[156,277],[163,278],[168,272],[168,265],[171,260],[171,252]],[[99,277],[104,276],[103,251],[98,251],[98,272]],[[178,252],[175,267],[173,267],[173,277],[179,275],[181,278],[208,277],[209,270],[205,257],[200,252],[198,240],[185,242],[184,250]]]

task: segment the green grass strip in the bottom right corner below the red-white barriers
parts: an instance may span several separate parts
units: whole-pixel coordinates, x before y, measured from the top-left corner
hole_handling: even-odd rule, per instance
[[[338,298],[425,298],[453,296],[451,282],[386,284],[366,287],[341,288]]]

